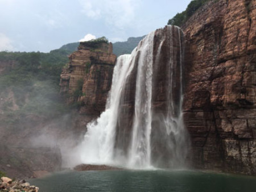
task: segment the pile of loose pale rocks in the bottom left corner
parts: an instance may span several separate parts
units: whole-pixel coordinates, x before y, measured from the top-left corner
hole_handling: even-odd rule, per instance
[[[39,187],[34,185],[30,186],[30,183],[25,180],[13,181],[9,177],[1,177],[0,180],[0,191],[27,191],[27,192],[38,192]]]

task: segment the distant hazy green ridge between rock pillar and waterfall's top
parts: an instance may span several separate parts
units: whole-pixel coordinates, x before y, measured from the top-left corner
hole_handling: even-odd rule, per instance
[[[139,44],[144,36],[141,37],[129,37],[127,41],[124,42],[115,42],[113,43],[113,53],[116,56],[120,56],[123,54],[130,54],[135,47]]]

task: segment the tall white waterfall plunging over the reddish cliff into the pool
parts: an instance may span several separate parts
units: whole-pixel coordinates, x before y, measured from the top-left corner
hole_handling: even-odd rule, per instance
[[[166,26],[147,35],[131,55],[118,57],[106,110],[88,125],[80,146],[82,162],[184,165],[182,39],[179,27]]]

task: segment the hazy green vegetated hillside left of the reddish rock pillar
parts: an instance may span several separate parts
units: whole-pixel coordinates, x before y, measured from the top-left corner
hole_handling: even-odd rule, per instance
[[[61,49],[50,53],[0,52],[0,61],[15,62],[13,69],[0,76],[5,123],[17,123],[31,114],[52,118],[67,111],[59,97],[59,83],[70,53]]]

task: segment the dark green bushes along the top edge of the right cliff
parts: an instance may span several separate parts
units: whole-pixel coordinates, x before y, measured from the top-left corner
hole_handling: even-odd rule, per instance
[[[196,12],[199,7],[210,0],[193,0],[189,3],[187,9],[183,12],[177,13],[174,18],[168,20],[168,24],[173,26],[181,26]],[[215,0],[216,1],[216,0]]]

